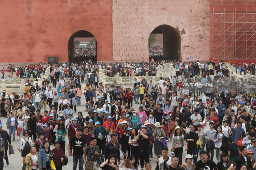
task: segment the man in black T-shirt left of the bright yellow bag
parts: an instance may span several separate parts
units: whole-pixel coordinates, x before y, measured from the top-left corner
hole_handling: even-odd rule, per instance
[[[190,125],[189,129],[190,132],[186,134],[186,147],[185,150],[187,151],[187,154],[193,155],[194,157],[194,164],[197,162],[197,140],[199,139],[198,134],[195,133],[195,125]]]

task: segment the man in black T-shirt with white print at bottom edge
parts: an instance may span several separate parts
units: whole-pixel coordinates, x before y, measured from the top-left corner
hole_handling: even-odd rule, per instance
[[[207,158],[207,152],[205,150],[202,150],[199,155],[201,160],[196,163],[196,170],[216,170],[215,162]]]

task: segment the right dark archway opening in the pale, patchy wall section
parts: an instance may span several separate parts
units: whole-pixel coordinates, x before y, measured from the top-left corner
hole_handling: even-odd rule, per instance
[[[155,35],[154,35],[155,34]],[[162,44],[154,37],[162,34]],[[155,43],[155,42],[158,43]],[[149,36],[149,60],[180,60],[181,59],[181,37],[180,32],[170,25],[159,25]],[[160,43],[160,44],[159,44]]]

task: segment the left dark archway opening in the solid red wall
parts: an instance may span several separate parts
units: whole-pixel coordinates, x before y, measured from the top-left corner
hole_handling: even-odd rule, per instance
[[[68,61],[89,60],[97,62],[97,41],[92,33],[85,30],[77,31],[68,40]]]

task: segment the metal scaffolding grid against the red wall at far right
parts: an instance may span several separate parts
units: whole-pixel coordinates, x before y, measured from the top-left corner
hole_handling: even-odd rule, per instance
[[[214,10],[212,57],[216,59],[256,59],[256,11]]]

